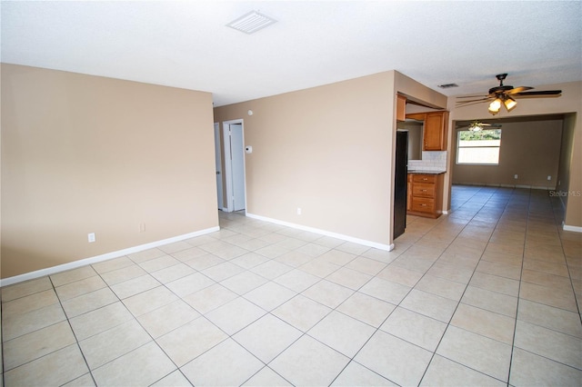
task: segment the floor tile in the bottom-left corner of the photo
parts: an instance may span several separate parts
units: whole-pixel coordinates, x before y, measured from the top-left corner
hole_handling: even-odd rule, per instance
[[[61,385],[88,371],[79,347],[72,344],[5,372],[4,381],[6,386]]]

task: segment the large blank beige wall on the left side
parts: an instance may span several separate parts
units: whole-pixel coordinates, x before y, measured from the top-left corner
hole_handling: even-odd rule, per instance
[[[208,93],[2,65],[2,278],[216,227],[212,118]]]

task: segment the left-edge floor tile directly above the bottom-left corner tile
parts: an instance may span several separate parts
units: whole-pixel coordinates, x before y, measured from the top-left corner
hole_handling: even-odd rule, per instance
[[[19,336],[3,343],[3,369],[9,371],[75,342],[75,336],[67,322],[55,323],[55,325]]]

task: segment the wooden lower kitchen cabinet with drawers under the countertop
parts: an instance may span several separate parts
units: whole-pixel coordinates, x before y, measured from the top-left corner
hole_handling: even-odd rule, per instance
[[[406,213],[437,218],[443,213],[444,174],[408,174]]]

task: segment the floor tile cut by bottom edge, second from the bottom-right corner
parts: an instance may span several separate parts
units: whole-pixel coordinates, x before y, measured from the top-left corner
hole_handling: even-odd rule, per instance
[[[472,370],[458,362],[452,362],[442,356],[435,355],[428,365],[421,386],[505,386],[501,382],[484,373]]]

